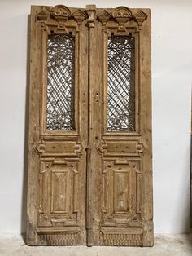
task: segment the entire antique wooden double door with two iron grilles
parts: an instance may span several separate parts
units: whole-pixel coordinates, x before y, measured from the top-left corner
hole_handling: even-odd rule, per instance
[[[33,6],[28,245],[153,245],[149,9]]]

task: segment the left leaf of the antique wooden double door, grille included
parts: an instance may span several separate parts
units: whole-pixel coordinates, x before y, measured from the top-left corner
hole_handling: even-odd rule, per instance
[[[88,57],[83,20],[85,13],[76,8],[32,7],[28,245],[86,243]]]

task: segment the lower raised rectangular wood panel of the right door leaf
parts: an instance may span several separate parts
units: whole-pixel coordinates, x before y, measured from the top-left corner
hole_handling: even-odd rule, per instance
[[[105,160],[103,163],[103,227],[141,227],[142,159]]]

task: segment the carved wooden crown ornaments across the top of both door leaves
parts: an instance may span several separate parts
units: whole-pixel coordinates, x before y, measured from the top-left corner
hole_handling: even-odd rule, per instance
[[[85,12],[87,15],[85,15]],[[41,21],[42,28],[50,31],[68,33],[68,29],[79,31],[83,20],[87,20],[89,28],[94,28],[96,19],[96,6],[86,6],[85,12],[81,9],[71,12],[68,7],[58,5],[55,7],[43,7],[37,15],[37,20]],[[128,7],[116,7],[112,13],[103,10],[97,15],[98,20],[103,24],[103,30],[107,29],[107,22],[113,20],[116,22],[118,32],[126,32],[127,27],[141,29],[142,23],[147,19],[144,11],[140,10],[135,15]],[[70,24],[68,21],[70,20]],[[72,22],[73,21],[73,22]],[[109,26],[110,27],[110,26]],[[113,29],[114,29],[113,25]]]

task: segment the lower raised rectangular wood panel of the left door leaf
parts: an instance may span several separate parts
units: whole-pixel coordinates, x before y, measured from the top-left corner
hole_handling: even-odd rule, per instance
[[[77,163],[41,163],[39,227],[78,226],[80,195]],[[50,196],[51,195],[51,196]]]

